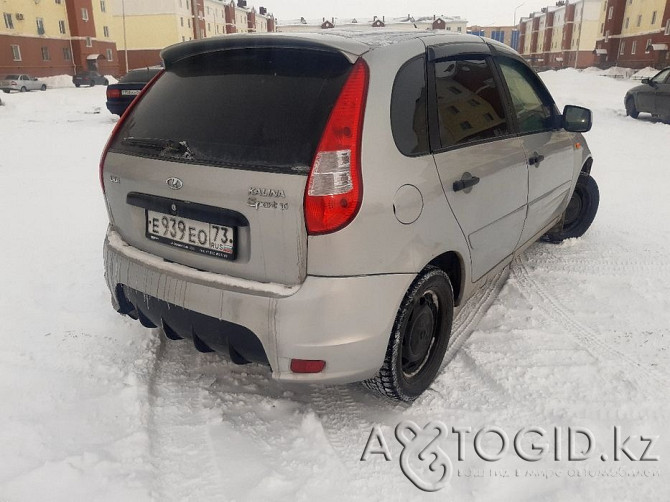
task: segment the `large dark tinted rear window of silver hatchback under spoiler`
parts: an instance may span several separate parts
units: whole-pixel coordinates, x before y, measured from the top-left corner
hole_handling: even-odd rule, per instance
[[[137,103],[110,150],[307,173],[351,66],[337,52],[288,48],[189,57],[173,64]]]

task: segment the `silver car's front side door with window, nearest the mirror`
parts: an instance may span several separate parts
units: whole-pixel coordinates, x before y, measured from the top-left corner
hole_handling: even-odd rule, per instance
[[[528,214],[520,244],[564,209],[575,169],[574,134],[560,128],[560,115],[539,77],[524,62],[496,56],[516,115],[528,162]]]

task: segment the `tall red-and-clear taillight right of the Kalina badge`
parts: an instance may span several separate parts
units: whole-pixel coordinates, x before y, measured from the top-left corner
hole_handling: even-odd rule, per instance
[[[321,136],[305,189],[305,224],[310,235],[340,230],[360,208],[361,135],[368,73],[367,64],[359,59]]]

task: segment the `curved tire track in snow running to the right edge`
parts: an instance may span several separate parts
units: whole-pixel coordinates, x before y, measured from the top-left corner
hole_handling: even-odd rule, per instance
[[[512,276],[516,280],[521,294],[532,305],[539,307],[548,320],[568,328],[567,331],[570,336],[576,339],[596,359],[621,362],[632,369],[632,372],[626,372],[626,376],[637,384],[637,390],[649,394],[650,397],[665,398],[665,389],[670,385],[667,376],[612,347],[595,330],[575,319],[570,313],[570,309],[560,301],[558,295],[549,292],[540,281],[533,277],[526,263],[527,258],[525,256],[517,258],[512,264]],[[539,296],[542,301],[533,301],[534,294]]]

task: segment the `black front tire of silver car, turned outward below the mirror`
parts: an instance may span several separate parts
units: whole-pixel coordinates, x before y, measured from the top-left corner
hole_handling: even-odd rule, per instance
[[[558,244],[565,239],[581,237],[593,223],[598,204],[600,191],[598,184],[591,176],[580,174],[572,198],[565,209],[564,219],[560,228],[552,228],[544,234],[542,240]]]

